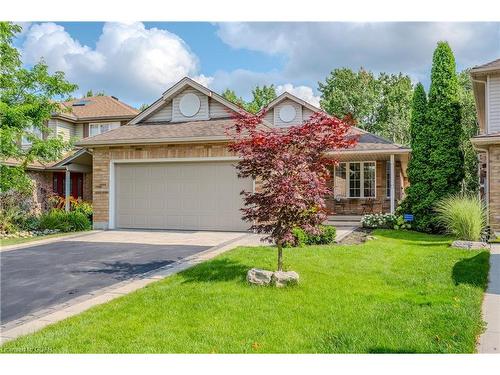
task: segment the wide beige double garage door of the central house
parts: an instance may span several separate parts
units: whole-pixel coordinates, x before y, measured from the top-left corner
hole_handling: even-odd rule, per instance
[[[239,179],[229,162],[116,165],[118,228],[247,230]]]

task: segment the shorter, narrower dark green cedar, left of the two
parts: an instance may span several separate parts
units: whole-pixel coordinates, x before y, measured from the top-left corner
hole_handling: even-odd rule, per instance
[[[424,86],[418,83],[413,93],[410,139],[412,155],[408,164],[410,186],[400,210],[415,216],[414,227],[425,230],[429,216],[432,215],[430,200],[432,169],[429,168],[430,127],[427,124],[427,97]]]

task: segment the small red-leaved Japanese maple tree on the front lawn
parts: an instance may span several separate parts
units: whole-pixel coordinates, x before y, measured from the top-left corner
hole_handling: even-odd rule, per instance
[[[348,134],[351,118],[341,121],[317,113],[302,125],[269,129],[262,125],[263,116],[236,114],[229,149],[241,158],[238,176],[251,177],[259,186],[253,193],[242,192],[243,219],[276,244],[282,271],[282,248],[293,240],[292,230],[318,234],[318,225],[326,219],[328,166],[335,160],[325,153],[351,147],[357,139]]]

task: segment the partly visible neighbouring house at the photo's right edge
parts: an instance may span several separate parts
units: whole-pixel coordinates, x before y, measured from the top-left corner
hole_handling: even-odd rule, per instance
[[[500,236],[500,59],[471,69],[479,134],[471,139],[480,153],[481,195],[488,225]]]

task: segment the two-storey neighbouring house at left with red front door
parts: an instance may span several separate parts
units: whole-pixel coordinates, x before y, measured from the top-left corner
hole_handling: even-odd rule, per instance
[[[113,96],[95,96],[61,103],[61,111],[54,113],[48,121],[50,133],[39,137],[62,136],[65,141],[79,141],[103,134],[124,125],[139,113],[135,108]],[[23,147],[30,147],[27,139],[21,140]],[[17,165],[16,160],[2,161],[5,165]],[[37,210],[47,208],[47,197],[92,200],[92,155],[75,148],[62,160],[47,165],[34,163],[28,166],[28,174],[35,183],[34,200]],[[66,192],[68,194],[66,194]],[[69,200],[68,200],[69,202]]]

